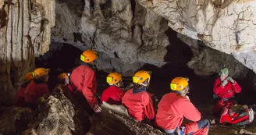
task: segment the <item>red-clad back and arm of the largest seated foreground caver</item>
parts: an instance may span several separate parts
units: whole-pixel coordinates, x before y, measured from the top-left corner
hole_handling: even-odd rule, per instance
[[[175,129],[181,125],[184,116],[195,122],[201,119],[201,113],[189,99],[171,92],[165,94],[159,102],[155,123],[165,130]]]

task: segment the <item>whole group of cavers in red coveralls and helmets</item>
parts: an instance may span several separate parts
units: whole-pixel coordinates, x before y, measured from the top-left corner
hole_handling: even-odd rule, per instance
[[[109,73],[106,81],[109,87],[103,91],[101,99],[96,96],[97,84],[94,61],[98,59],[98,52],[87,50],[80,55],[80,66],[73,70],[70,76],[67,73],[59,75],[59,87],[68,87],[76,100],[86,102],[91,111],[101,112],[101,102],[111,105],[124,105],[131,117],[138,122],[147,120],[165,131],[166,134],[208,134],[210,123],[201,119],[201,113],[195,108],[187,96],[189,93],[189,80],[186,77],[176,77],[170,83],[171,91],[165,94],[158,103],[158,110],[153,107],[151,94],[147,89],[151,80],[151,72],[140,70],[133,75],[133,87],[123,91],[123,79],[119,73]],[[213,109],[214,113],[221,112],[222,108],[232,105],[231,98],[241,91],[240,86],[228,76],[228,69],[222,69],[220,77],[215,80],[214,93],[219,101]],[[70,77],[70,83],[69,83]],[[48,69],[37,68],[27,73],[25,83],[17,91],[14,105],[27,106],[35,109],[37,99],[48,94]],[[192,123],[183,125],[183,118]]]

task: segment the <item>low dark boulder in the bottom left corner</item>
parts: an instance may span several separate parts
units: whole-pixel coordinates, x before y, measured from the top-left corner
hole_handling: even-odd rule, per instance
[[[16,135],[27,129],[33,112],[30,108],[3,107],[0,110],[0,134]]]

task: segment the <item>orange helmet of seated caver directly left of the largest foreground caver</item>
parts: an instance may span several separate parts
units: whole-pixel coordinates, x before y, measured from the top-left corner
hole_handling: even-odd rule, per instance
[[[140,70],[133,76],[133,83],[137,83],[140,85],[144,85],[143,82],[148,79],[148,82],[150,81],[151,72]]]

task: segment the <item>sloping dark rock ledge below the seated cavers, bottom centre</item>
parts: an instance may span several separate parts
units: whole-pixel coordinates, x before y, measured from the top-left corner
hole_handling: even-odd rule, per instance
[[[129,134],[129,135],[164,135],[160,130],[132,119],[123,105],[108,105],[103,102],[102,111],[92,120],[92,127],[87,135]],[[118,124],[116,124],[118,123]]]

